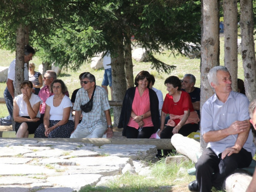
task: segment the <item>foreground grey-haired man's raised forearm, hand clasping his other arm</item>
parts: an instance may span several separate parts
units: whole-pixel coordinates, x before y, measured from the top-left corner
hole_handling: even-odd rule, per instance
[[[218,131],[209,131],[209,132],[205,133],[203,135],[203,138],[206,143],[220,141],[229,135],[236,135],[236,134],[245,132],[249,128],[250,127],[249,127],[248,120],[235,121],[226,129],[218,130]]]

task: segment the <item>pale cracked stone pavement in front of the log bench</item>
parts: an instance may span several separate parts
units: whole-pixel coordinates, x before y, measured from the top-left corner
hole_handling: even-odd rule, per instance
[[[155,145],[0,139],[0,192],[71,192],[125,172],[150,176],[146,161],[156,154]]]

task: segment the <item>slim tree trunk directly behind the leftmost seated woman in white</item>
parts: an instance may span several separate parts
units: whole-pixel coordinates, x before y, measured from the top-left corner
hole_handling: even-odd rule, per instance
[[[24,26],[19,25],[16,36],[16,64],[15,64],[15,83],[14,83],[14,95],[22,94],[20,90],[20,83],[24,81]]]

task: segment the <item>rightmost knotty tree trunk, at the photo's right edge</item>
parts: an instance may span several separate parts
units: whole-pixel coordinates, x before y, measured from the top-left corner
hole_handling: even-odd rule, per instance
[[[244,68],[245,93],[249,101],[256,97],[256,61],[253,40],[253,12],[252,1],[240,1],[240,28],[241,28],[241,49]]]

